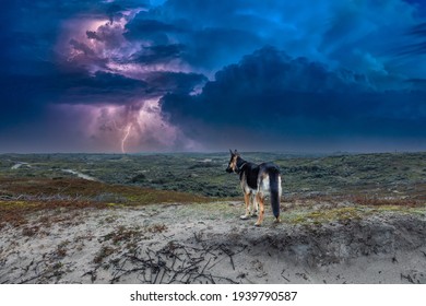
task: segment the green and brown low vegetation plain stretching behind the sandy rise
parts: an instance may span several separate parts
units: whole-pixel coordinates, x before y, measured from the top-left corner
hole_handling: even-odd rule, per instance
[[[350,202],[329,215],[356,217],[374,208],[416,208],[426,202],[426,153],[300,156],[245,153],[274,161],[283,174],[287,208],[304,201]],[[24,224],[39,210],[117,208],[153,203],[241,200],[238,176],[225,173],[228,154],[3,154],[0,155],[0,227]],[[85,175],[93,180],[79,178]],[[292,222],[300,221],[294,215]],[[34,228],[25,235],[32,235]]]

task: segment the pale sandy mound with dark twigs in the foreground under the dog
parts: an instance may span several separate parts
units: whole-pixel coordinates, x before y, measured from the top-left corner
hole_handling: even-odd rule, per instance
[[[0,236],[0,283],[426,283],[426,217],[240,221],[240,202],[50,211]]]

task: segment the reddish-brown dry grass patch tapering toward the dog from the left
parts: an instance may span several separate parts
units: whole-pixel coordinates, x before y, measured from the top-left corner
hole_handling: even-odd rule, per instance
[[[40,210],[105,209],[116,205],[152,203],[193,203],[211,199],[185,192],[107,185],[79,178],[0,177],[0,228],[5,224],[23,225],[27,216]],[[45,220],[44,223],[59,222]],[[32,235],[28,231],[25,235]]]

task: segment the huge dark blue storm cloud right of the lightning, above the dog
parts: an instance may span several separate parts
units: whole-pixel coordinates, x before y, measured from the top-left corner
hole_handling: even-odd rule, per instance
[[[285,148],[312,138],[323,150],[345,138],[426,138],[425,102],[425,91],[377,91],[365,75],[267,47],[218,71],[200,95],[167,95],[162,106],[171,122],[211,145],[274,139]]]

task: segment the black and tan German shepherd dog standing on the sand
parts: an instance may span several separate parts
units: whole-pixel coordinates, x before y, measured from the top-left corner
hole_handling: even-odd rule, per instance
[[[264,214],[264,198],[270,196],[272,212],[275,216],[275,222],[280,220],[280,198],[281,175],[280,168],[274,163],[262,163],[260,165],[247,162],[241,158],[237,150],[230,152],[230,160],[227,173],[239,174],[239,181],[241,185],[244,201],[246,203],[246,214],[241,215],[242,220],[255,215],[250,210],[250,204],[256,209],[259,204],[259,216],[256,226],[262,225]]]

